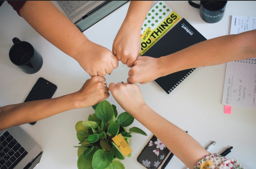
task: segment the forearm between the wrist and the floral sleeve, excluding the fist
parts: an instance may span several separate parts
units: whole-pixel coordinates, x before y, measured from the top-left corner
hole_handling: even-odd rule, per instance
[[[189,168],[192,169],[204,155],[210,154],[189,134],[164,119],[147,105],[140,106],[137,111],[134,110],[130,114],[147,127]]]

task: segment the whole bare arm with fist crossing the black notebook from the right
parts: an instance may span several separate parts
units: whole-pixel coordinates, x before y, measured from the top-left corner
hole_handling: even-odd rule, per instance
[[[139,57],[129,71],[127,82],[144,84],[185,69],[256,57],[255,39],[253,30],[206,40],[160,58]]]

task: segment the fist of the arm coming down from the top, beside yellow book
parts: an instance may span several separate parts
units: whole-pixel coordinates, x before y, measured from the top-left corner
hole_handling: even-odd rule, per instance
[[[123,22],[113,42],[112,52],[129,68],[140,53],[140,30],[134,30],[130,23]]]

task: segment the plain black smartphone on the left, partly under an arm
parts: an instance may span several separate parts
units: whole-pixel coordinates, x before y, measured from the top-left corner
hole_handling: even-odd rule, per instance
[[[57,86],[55,84],[40,77],[36,81],[35,85],[29,92],[24,102],[52,98],[56,90],[57,90]],[[36,122],[32,122],[29,124],[34,125],[35,123]]]

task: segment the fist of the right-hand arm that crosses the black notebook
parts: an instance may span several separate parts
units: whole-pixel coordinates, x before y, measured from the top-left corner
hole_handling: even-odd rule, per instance
[[[129,70],[128,83],[145,84],[159,78],[161,70],[159,59],[150,56],[140,56],[134,61],[133,67]]]

